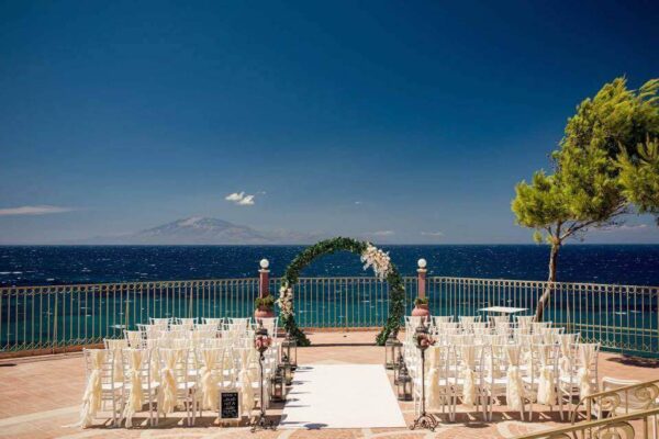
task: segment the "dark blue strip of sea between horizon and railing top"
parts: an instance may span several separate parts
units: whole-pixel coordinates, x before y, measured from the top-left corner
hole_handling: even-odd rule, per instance
[[[163,280],[255,278],[259,261],[272,277],[305,246],[0,246],[0,285],[59,285]],[[403,275],[427,260],[428,275],[546,280],[544,245],[381,246]],[[314,261],[303,275],[372,275],[349,252]],[[558,280],[659,285],[659,245],[566,245]]]

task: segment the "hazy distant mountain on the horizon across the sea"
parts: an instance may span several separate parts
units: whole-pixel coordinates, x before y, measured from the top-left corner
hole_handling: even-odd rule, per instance
[[[248,244],[306,244],[321,238],[320,235],[287,230],[261,232],[224,219],[192,216],[135,234],[97,237],[85,244],[127,245],[248,245]]]

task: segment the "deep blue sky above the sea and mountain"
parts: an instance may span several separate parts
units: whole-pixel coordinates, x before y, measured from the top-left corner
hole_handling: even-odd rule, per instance
[[[583,98],[659,76],[658,21],[650,1],[1,2],[0,243],[192,215],[530,243],[515,182]]]

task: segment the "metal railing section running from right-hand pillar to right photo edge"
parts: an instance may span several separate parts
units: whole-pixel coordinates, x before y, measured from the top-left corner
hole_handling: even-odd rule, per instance
[[[436,315],[476,315],[488,306],[513,306],[534,314],[548,282],[501,279],[429,278]],[[544,319],[580,333],[606,350],[659,354],[659,288],[556,282]]]

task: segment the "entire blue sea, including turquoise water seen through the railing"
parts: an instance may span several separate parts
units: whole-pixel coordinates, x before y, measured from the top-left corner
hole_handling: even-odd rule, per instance
[[[382,248],[389,251],[403,275],[415,275],[417,260],[424,258],[431,277],[547,279],[547,246]],[[279,277],[303,249],[304,246],[4,246],[0,247],[0,286],[254,279],[264,258],[270,261],[271,275]],[[372,272],[364,270],[357,255],[324,256],[302,274],[371,279],[300,283],[295,288],[295,315],[300,326],[373,327],[382,326],[388,318],[388,296],[373,283]],[[659,246],[565,246],[559,254],[558,280],[659,285]],[[239,286],[247,284],[253,286]],[[127,284],[89,290],[92,294],[80,293],[75,286],[51,290],[56,294],[36,295],[11,288],[0,290],[0,351],[99,342],[107,337],[122,337],[124,329],[134,329],[149,317],[253,314],[255,281],[198,282],[196,285],[188,289],[158,282],[142,289]],[[407,282],[407,286],[405,313],[411,312],[415,282]],[[468,284],[456,292],[455,284],[431,282],[426,293],[436,315],[476,315],[481,307],[512,303],[527,307],[530,313],[534,306],[529,301],[540,291],[511,286],[502,292]],[[579,330],[585,339],[600,340],[607,349],[657,354],[658,301],[656,294],[607,294],[600,299],[592,292],[560,293],[552,299],[555,306],[550,307],[548,317],[567,322],[568,327],[572,325],[570,330]]]

